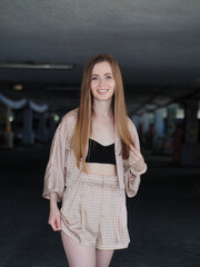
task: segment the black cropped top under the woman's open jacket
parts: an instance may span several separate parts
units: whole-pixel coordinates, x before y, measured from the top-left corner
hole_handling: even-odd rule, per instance
[[[103,146],[93,139],[89,139],[86,162],[116,165],[114,142],[109,146]]]

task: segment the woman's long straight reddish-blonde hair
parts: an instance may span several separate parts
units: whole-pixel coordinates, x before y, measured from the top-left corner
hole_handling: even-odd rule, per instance
[[[112,108],[116,129],[118,130],[121,139],[122,145],[121,155],[123,159],[128,159],[130,145],[132,146],[134,145],[128,128],[128,117],[123,96],[123,83],[119,65],[117,60],[108,53],[94,55],[88,61],[83,71],[80,107],[78,109],[77,125],[71,139],[71,146],[77,158],[77,166],[78,168],[80,168],[80,161],[82,159],[82,169],[84,172],[87,172],[86,154],[91,131],[91,117],[92,117],[92,96],[90,89],[91,73],[94,65],[102,61],[107,61],[110,63],[113,78],[116,81]]]

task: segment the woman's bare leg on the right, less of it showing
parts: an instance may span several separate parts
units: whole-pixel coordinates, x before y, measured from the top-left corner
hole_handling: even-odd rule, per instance
[[[96,267],[109,267],[114,249],[96,249]]]

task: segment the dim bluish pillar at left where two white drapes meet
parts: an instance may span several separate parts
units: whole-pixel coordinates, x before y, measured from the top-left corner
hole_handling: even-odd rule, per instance
[[[32,130],[32,109],[30,108],[26,108],[23,110],[22,144],[24,145],[34,144],[34,132]]]

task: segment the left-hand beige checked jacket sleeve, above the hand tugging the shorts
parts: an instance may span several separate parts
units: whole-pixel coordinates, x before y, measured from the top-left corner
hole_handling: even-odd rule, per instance
[[[61,120],[58,126],[50,149],[49,161],[46,168],[42,197],[49,199],[51,192],[57,192],[61,201],[64,190],[64,162],[68,157],[67,121]]]

